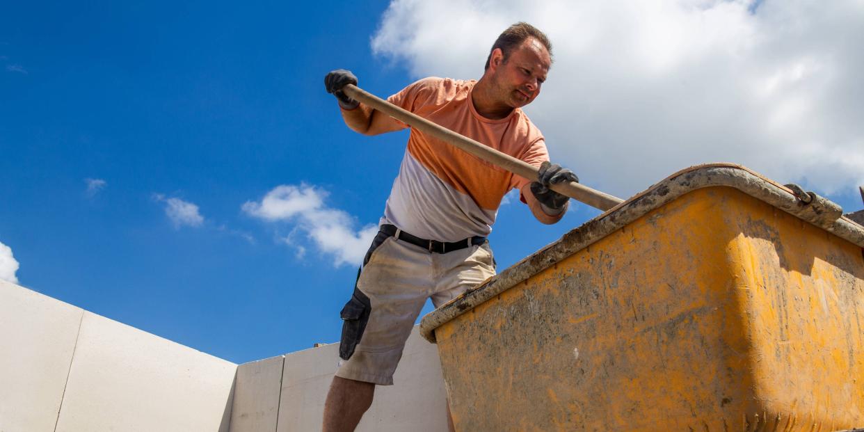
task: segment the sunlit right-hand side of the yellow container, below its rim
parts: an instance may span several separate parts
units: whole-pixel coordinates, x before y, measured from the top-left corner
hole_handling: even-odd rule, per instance
[[[781,430],[796,419],[864,426],[861,248],[758,200],[735,213],[728,253],[753,341],[753,397],[783,417]]]

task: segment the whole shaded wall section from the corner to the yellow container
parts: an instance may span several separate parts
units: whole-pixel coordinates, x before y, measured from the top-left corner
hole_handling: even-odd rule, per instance
[[[238,366],[232,432],[321,430],[339,344]],[[378,386],[358,431],[447,430],[447,397],[438,350],[415,327],[395,385]]]

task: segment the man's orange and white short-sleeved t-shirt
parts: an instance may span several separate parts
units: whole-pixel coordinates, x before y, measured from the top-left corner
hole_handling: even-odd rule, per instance
[[[471,100],[474,84],[474,80],[426,78],[389,100],[536,167],[548,161],[543,134],[522,110],[517,108],[499,120],[480,116]],[[528,182],[412,129],[382,223],[440,241],[486,236],[492,232],[504,195]]]

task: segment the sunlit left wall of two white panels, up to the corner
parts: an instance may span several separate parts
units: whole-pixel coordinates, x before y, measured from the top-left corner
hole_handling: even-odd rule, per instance
[[[0,281],[0,431],[227,430],[236,369]]]

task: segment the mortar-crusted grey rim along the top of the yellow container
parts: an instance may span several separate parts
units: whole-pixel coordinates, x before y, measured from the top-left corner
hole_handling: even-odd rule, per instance
[[[837,237],[864,248],[864,226],[845,216],[826,216],[823,207],[804,204],[792,190],[755,171],[735,163],[705,163],[684,168],[658,181],[645,191],[633,195],[618,206],[590,219],[565,233],[550,245],[524,257],[498,275],[427,314],[420,323],[420,333],[435,343],[435,328],[480,305],[495,295],[527,280],[539,271],[560,262],[577,251],[594,244],[600,238],[619,230],[683,194],[705,187],[733,187],[757,200],[766,202],[792,216],[823,228]],[[835,203],[819,197],[827,206]],[[842,209],[841,213],[842,213]]]

